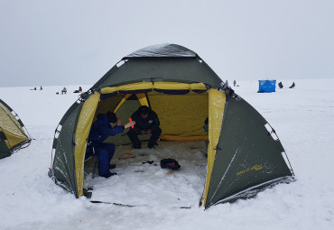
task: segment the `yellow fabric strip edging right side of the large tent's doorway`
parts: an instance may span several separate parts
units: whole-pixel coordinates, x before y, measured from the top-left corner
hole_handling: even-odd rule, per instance
[[[213,164],[216,158],[215,147],[218,144],[221,125],[223,122],[224,108],[226,103],[226,95],[216,89],[209,89],[209,146],[208,146],[208,167],[207,167],[207,179],[203,191],[201,201],[203,206],[207,201],[209,183],[211,179],[211,173]]]

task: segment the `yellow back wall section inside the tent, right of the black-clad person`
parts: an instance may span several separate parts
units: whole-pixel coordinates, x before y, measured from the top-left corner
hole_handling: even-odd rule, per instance
[[[208,93],[166,95],[150,92],[147,95],[159,117],[162,135],[207,136],[203,124],[208,117]]]

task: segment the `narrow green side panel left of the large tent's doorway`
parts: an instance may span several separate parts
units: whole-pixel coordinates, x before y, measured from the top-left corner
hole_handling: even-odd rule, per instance
[[[78,197],[74,167],[74,133],[83,103],[74,103],[61,119],[61,130],[58,136],[53,160],[53,173],[56,179]]]

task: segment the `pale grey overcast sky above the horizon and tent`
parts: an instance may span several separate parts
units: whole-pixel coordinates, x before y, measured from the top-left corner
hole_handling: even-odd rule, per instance
[[[161,43],[222,79],[334,78],[334,1],[0,0],[0,87],[94,84]]]

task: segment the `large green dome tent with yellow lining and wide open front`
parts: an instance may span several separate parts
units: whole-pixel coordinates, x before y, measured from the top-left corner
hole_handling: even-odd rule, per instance
[[[209,140],[201,206],[247,198],[293,179],[283,146],[264,117],[197,53],[176,44],[153,45],[127,55],[70,106],[56,130],[51,178],[77,198],[82,196],[92,122],[107,111],[126,119],[138,105],[152,107],[159,116],[161,140]],[[209,133],[202,129],[206,117]],[[129,143],[124,136],[113,138],[113,143]]]

